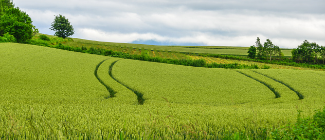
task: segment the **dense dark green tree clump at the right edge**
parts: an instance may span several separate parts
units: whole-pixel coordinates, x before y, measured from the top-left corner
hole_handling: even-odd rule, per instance
[[[305,40],[301,45],[299,45],[296,49],[291,51],[293,61],[299,63],[315,63],[317,62],[317,57],[322,57],[322,64],[324,64],[325,58],[325,46],[319,46],[316,43],[310,43]]]

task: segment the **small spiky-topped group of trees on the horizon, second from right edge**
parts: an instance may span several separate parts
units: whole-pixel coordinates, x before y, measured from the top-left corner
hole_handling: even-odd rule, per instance
[[[266,42],[262,45],[260,37],[257,37],[255,43],[255,46],[250,46],[248,49],[248,57],[252,59],[258,57],[259,59],[269,59],[271,61],[272,56],[283,56],[280,47],[274,45],[270,39],[266,39]]]

